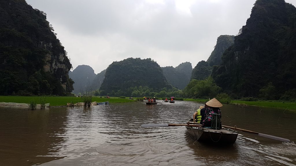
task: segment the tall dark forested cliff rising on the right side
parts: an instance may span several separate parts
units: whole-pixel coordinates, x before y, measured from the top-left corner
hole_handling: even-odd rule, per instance
[[[284,0],[257,0],[212,77],[234,97],[279,99],[295,93],[296,8]]]

